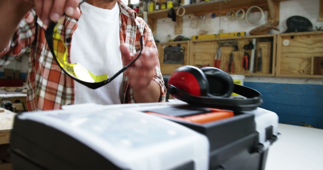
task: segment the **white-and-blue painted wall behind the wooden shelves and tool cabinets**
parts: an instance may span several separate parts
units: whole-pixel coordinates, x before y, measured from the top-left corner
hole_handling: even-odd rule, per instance
[[[287,18],[300,15],[309,19],[315,26],[322,27],[323,22],[318,22],[319,0],[292,0],[280,3],[280,24],[278,31],[273,34],[283,33],[287,29]],[[200,30],[208,31],[207,34],[219,33],[219,17],[211,18],[207,14],[204,20],[198,19],[198,26],[192,28],[194,15],[183,17],[183,36],[191,38],[198,35]],[[256,17],[254,16],[251,17]],[[267,12],[266,12],[267,18]],[[193,22],[194,24],[194,22]],[[250,27],[245,20],[228,21],[221,17],[221,29],[224,33],[245,31],[247,34],[255,27]],[[157,21],[157,34],[155,40],[167,42],[168,37],[174,39],[174,22],[170,18]],[[169,75],[164,75],[168,78]],[[281,123],[295,125],[310,124],[323,129],[323,80],[308,78],[280,78],[280,77],[246,77],[245,86],[260,91],[263,95],[262,108],[274,111],[279,116]]]

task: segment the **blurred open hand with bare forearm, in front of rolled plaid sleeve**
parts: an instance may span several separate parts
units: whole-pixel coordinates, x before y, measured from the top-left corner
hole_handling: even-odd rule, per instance
[[[120,45],[123,65],[133,61],[139,53],[130,54],[126,45]],[[157,51],[146,47],[142,50],[141,56],[126,71],[129,85],[133,88],[133,97],[137,103],[157,102],[160,97],[160,87],[152,78],[155,75],[155,67],[158,65]]]

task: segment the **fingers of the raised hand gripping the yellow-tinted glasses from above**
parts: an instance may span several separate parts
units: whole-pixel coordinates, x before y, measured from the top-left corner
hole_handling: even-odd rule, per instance
[[[18,2],[29,9],[36,7],[38,17],[47,26],[50,20],[58,21],[64,12],[72,18],[79,18],[81,15],[78,9],[79,0],[18,0]]]

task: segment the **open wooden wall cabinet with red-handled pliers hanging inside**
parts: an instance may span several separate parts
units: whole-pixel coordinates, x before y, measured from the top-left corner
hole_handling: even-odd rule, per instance
[[[255,71],[251,73],[243,68],[244,52],[248,52],[251,61],[251,50],[244,50],[244,45],[249,44],[249,40],[256,38],[256,54],[255,54]],[[260,40],[268,39],[270,42],[260,42]],[[276,35],[261,35],[261,36],[245,36],[236,38],[222,38],[220,41],[236,40],[238,42],[238,51],[233,52],[234,56],[234,72],[230,74],[241,74],[245,76],[275,76],[275,60],[276,60]],[[212,40],[193,40],[191,42],[190,65],[214,67],[214,57],[217,52],[219,39]],[[257,71],[258,51],[262,48],[262,70]],[[234,50],[233,47],[221,47],[221,64],[220,69],[226,71],[229,63],[230,53]],[[249,61],[249,65],[250,65]]]

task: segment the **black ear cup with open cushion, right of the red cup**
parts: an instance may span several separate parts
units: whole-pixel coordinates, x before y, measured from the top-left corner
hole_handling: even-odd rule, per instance
[[[219,97],[229,97],[234,90],[232,77],[215,67],[201,68],[209,83],[209,93]]]

